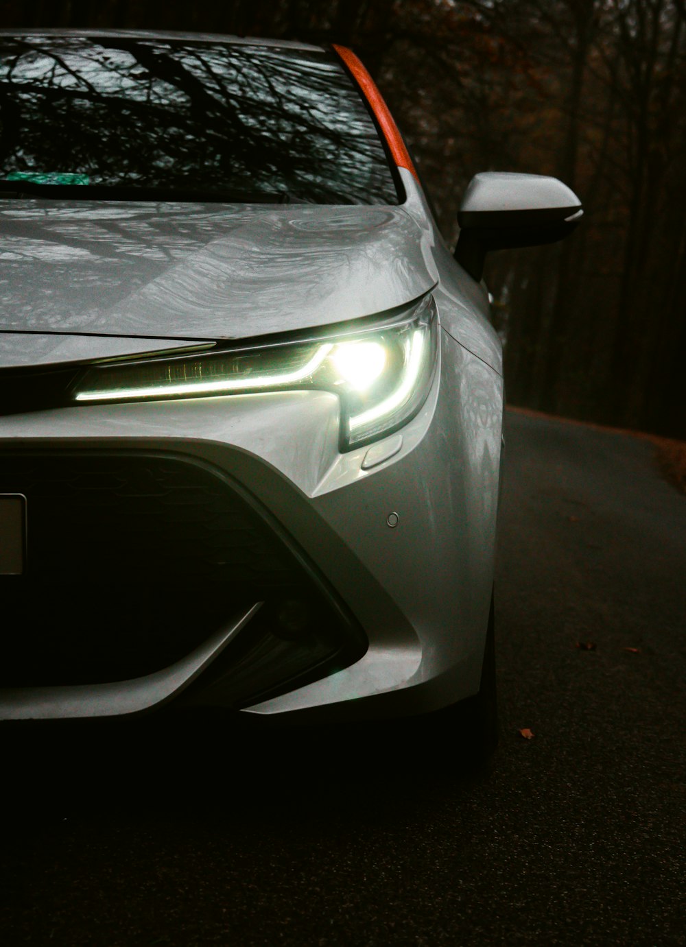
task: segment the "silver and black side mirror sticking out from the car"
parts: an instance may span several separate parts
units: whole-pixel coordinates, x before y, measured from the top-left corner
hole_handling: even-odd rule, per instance
[[[579,198],[557,178],[483,171],[462,198],[455,259],[479,281],[489,250],[563,240],[583,216]]]

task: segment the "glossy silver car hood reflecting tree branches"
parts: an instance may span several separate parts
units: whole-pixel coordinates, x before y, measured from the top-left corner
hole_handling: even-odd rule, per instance
[[[247,338],[383,312],[437,280],[402,207],[2,203],[0,331]]]

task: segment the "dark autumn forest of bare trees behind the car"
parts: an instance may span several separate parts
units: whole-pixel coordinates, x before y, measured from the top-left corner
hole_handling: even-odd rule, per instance
[[[36,0],[2,27],[143,27],[350,45],[443,234],[478,170],[554,174],[586,209],[493,254],[508,400],[686,438],[686,0]]]

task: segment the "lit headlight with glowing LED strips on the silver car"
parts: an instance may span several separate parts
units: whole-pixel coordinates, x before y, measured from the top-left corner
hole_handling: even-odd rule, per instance
[[[410,312],[359,331],[91,366],[72,395],[81,404],[323,388],[340,398],[341,446],[350,449],[388,434],[419,411],[436,364],[436,321],[428,295]]]

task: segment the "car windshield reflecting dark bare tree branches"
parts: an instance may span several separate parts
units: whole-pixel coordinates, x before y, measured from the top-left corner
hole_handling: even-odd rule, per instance
[[[85,199],[398,203],[333,53],[210,41],[0,37],[0,179]]]

